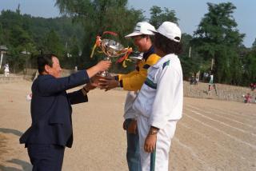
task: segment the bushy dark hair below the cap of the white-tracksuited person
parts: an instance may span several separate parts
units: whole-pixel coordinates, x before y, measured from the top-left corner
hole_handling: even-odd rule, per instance
[[[162,34],[154,34],[154,46],[164,54],[182,54],[182,44],[166,38]]]

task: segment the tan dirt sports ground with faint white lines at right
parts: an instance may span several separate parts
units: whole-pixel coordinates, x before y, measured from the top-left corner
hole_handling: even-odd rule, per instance
[[[31,170],[18,138],[30,125],[31,82],[0,84],[0,170]],[[125,91],[89,93],[73,106],[74,144],[66,148],[64,171],[126,171],[122,130]],[[256,105],[184,99],[182,120],[172,142],[170,170],[256,170]]]

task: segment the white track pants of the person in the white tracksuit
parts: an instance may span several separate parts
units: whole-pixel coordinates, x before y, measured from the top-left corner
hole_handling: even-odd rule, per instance
[[[177,121],[168,121],[158,132],[156,143],[155,171],[168,171],[171,139],[174,137]],[[149,133],[148,118],[138,115],[138,134],[142,171],[150,171],[150,153],[144,151],[144,143]]]

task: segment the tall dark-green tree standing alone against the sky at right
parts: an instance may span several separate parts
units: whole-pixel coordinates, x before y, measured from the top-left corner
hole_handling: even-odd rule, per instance
[[[214,58],[215,80],[232,84],[232,80],[242,79],[238,49],[244,34],[239,34],[232,16],[236,7],[231,2],[207,5],[209,12],[194,32],[193,45],[205,60]]]

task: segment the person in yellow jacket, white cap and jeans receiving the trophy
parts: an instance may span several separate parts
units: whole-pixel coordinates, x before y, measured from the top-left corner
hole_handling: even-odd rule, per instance
[[[137,114],[134,112],[132,105],[137,97],[138,90],[141,89],[143,82],[146,80],[147,69],[153,66],[159,60],[159,56],[154,53],[153,43],[150,36],[154,35],[154,26],[148,22],[138,22],[134,27],[134,32],[126,35],[126,38],[132,38],[138,51],[142,52],[142,59],[139,60],[136,70],[129,74],[118,74],[115,79],[102,80],[104,89],[113,89],[122,87],[128,90],[125,104],[125,121],[123,128],[127,136],[126,160],[130,171],[141,170],[139,141],[137,129]]]

